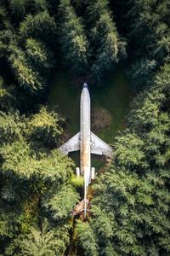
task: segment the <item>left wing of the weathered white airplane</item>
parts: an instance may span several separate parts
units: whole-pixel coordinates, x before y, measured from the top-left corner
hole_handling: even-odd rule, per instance
[[[64,154],[69,154],[69,152],[80,150],[80,131],[73,137],[71,137],[68,142],[64,143],[58,148]]]

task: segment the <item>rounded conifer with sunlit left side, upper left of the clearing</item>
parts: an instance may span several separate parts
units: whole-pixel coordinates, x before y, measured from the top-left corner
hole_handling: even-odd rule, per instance
[[[18,84],[31,94],[44,88],[54,67],[54,56],[45,45],[29,38],[25,51],[15,43],[9,44],[8,50],[8,61]]]

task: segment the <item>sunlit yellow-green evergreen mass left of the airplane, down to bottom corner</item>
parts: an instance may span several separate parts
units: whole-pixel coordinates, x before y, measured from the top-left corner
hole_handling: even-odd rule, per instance
[[[54,111],[41,108],[31,118],[20,116],[19,112],[1,112],[0,119],[2,252],[62,255],[71,228],[66,223],[78,195],[71,184],[71,160],[45,143],[61,133],[59,117]],[[38,141],[41,130],[46,136],[44,145]],[[44,218],[48,230],[43,231],[40,223]]]

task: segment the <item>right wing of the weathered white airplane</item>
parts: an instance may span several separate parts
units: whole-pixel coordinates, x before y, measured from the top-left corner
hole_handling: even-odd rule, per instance
[[[91,131],[91,153],[111,156],[112,148]]]

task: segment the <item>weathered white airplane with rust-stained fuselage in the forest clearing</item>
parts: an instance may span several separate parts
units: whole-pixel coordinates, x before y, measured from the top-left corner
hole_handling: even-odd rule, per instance
[[[80,131],[71,137],[68,142],[61,145],[58,149],[64,154],[80,150],[80,168],[77,167],[77,177],[84,177],[84,199],[83,215],[86,218],[88,205],[88,184],[94,179],[95,168],[91,168],[91,154],[104,154],[111,157],[112,148],[91,131],[91,112],[90,112],[90,94],[88,84],[84,83],[82,87],[80,101]]]

